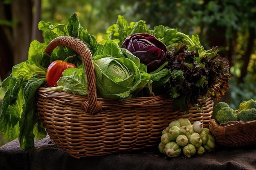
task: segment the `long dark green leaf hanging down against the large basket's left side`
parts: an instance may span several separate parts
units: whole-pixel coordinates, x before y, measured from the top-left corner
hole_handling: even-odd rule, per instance
[[[35,135],[33,129],[38,120],[38,115],[36,114],[36,91],[43,83],[45,83],[45,78],[37,79],[33,77],[29,79],[24,88],[25,104],[23,104],[23,111],[19,121],[19,142],[22,149],[34,147]]]

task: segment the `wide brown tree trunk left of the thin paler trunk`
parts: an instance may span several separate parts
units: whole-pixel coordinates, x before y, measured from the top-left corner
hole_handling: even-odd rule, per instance
[[[13,64],[27,60],[31,42],[32,4],[31,0],[12,0],[13,18]]]

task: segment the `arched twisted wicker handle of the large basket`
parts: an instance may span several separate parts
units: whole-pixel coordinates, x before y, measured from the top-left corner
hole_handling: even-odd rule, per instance
[[[78,53],[85,66],[86,77],[87,77],[87,91],[88,91],[88,101],[85,101],[81,108],[87,113],[98,113],[102,110],[102,104],[97,100],[97,89],[96,89],[96,78],[94,74],[94,66],[92,62],[92,53],[88,49],[85,42],[79,40],[78,38],[73,38],[70,36],[59,36],[49,42],[45,48],[45,53],[51,55],[52,51],[57,46],[67,46],[76,53]]]

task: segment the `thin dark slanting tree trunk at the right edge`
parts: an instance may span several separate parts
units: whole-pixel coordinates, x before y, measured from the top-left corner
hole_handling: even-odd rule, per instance
[[[250,56],[252,54],[252,49],[254,46],[254,39],[255,39],[255,28],[249,28],[249,39],[248,39],[248,43],[247,43],[247,49],[245,52],[245,55],[243,56],[243,66],[241,68],[241,76],[238,79],[238,83],[242,83],[244,82],[244,77],[247,74],[247,67],[250,61]]]

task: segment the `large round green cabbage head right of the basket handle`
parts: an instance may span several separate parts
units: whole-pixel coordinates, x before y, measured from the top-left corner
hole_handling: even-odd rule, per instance
[[[127,51],[126,51],[127,52]],[[141,72],[137,57],[130,53],[122,57],[97,55],[93,57],[97,94],[109,99],[128,99],[136,95],[150,80],[150,75]],[[136,63],[136,64],[135,64]]]

